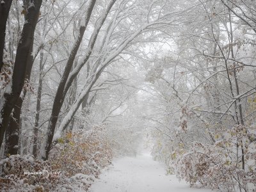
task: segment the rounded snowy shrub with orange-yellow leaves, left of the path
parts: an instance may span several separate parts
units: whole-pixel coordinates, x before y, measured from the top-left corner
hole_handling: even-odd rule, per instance
[[[52,148],[49,161],[57,170],[70,176],[83,173],[99,177],[100,170],[111,164],[113,157],[103,132],[102,127],[94,127],[86,132],[68,132]]]

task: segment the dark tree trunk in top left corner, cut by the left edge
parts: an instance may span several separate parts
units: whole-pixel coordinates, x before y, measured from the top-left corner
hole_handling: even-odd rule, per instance
[[[4,0],[0,3],[0,72],[3,67],[4,40],[6,31],[6,22],[12,5],[12,0]]]

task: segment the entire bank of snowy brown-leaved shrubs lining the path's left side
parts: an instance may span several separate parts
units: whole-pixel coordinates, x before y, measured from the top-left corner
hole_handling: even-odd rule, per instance
[[[1,191],[88,191],[102,168],[111,164],[112,151],[102,133],[102,127],[68,132],[52,148],[48,161],[31,155],[3,159]],[[50,176],[44,174],[45,170]],[[60,174],[52,177],[54,171]]]

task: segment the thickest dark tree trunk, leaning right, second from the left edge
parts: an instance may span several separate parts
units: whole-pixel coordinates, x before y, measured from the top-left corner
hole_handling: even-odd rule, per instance
[[[4,94],[5,103],[3,109],[1,109],[2,122],[0,124],[0,145],[3,143],[4,132],[8,129],[12,109],[19,99],[24,86],[26,72],[29,67],[28,60],[29,57],[31,57],[31,44],[34,39],[36,23],[39,17],[42,0],[26,1],[26,3],[33,3],[34,6],[29,6],[28,8],[28,12],[25,16],[26,22],[22,29],[20,42],[17,47],[12,76],[12,93]]]

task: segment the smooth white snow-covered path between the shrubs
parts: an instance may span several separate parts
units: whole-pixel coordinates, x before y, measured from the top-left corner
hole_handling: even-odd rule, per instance
[[[164,175],[157,161],[149,154],[116,159],[108,170],[100,175],[90,189],[92,192],[212,192],[211,189],[189,188],[175,175]]]

